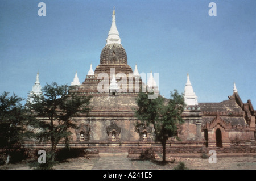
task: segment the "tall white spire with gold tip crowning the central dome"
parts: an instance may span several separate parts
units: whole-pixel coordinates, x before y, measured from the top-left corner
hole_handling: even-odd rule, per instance
[[[109,30],[109,35],[108,35],[108,38],[106,39],[106,42],[107,42],[106,44],[112,44],[112,43],[121,44],[119,32],[117,31],[117,26],[115,25],[115,7],[112,15],[112,25]]]

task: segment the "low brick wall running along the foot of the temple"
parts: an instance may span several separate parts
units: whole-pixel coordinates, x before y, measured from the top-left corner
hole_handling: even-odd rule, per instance
[[[205,146],[204,141],[173,141],[167,142],[166,153],[208,153],[209,150],[216,150],[217,153],[256,153],[256,142],[237,141],[224,142],[223,147],[216,147],[216,142],[209,142]],[[40,149],[48,150],[50,143],[39,144],[38,142],[26,142],[22,145],[25,153],[32,157],[38,157],[36,153]],[[64,144],[59,144],[57,149],[65,148]],[[144,153],[162,153],[160,142],[153,141],[74,141],[70,144],[71,149],[79,150],[80,156],[98,156],[99,153],[129,153],[129,157],[138,157]]]

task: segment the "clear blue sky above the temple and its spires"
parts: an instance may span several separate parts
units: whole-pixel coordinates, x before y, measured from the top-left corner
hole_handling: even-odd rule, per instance
[[[46,16],[38,16],[38,3]],[[215,2],[217,16],[209,16]],[[100,64],[112,23],[128,64],[159,73],[160,94],[184,91],[187,72],[199,102],[233,94],[256,107],[256,1],[14,1],[0,2],[0,93],[27,98],[39,71],[42,86],[83,82]]]

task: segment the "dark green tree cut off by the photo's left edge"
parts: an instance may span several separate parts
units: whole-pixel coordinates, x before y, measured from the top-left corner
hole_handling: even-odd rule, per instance
[[[9,92],[0,96],[0,148],[6,150],[6,164],[10,154],[20,148],[24,133],[24,125],[29,119],[26,108],[22,105],[22,98]]]

